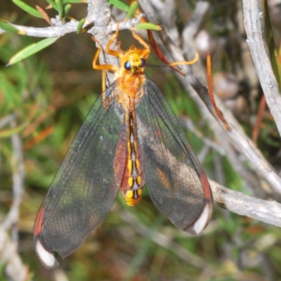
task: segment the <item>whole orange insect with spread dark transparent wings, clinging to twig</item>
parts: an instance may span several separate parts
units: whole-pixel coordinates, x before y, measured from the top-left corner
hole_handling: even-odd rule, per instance
[[[156,84],[144,74],[150,46],[105,52],[117,65],[93,68],[115,73],[115,81],[93,105],[74,138],[39,209],[34,246],[46,268],[58,266],[53,252],[69,256],[110,211],[119,190],[129,206],[146,184],[152,202],[171,223],[192,235],[207,226],[211,188],[183,129]]]

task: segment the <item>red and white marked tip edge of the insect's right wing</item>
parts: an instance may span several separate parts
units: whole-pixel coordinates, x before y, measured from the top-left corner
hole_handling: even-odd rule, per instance
[[[202,181],[202,187],[204,191],[204,207],[196,221],[185,230],[191,235],[196,236],[200,235],[204,228],[206,228],[207,224],[209,223],[209,220],[211,219],[211,215],[213,214],[213,196],[211,194],[211,187],[209,185],[209,181],[204,172],[200,174],[200,179]]]

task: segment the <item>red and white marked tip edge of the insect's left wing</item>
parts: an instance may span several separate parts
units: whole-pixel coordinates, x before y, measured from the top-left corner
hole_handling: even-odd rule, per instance
[[[41,207],[34,224],[34,247],[43,266],[45,266],[47,269],[52,269],[57,267],[59,263],[55,259],[55,255],[44,247],[44,242],[42,241],[41,235],[44,228],[43,217],[44,207]]]

